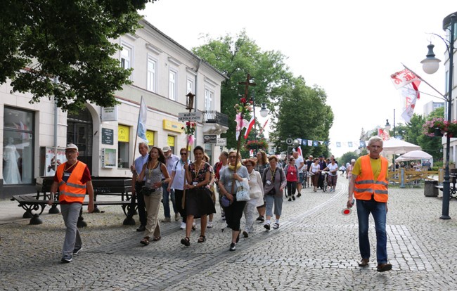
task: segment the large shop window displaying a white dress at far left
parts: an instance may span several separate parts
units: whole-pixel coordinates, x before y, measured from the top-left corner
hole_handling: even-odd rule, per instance
[[[4,108],[4,184],[30,184],[33,180],[34,113]]]

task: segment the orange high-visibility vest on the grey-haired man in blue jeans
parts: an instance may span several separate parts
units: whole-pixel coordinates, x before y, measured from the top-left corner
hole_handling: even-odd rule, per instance
[[[354,196],[358,200],[371,200],[374,195],[375,201],[387,202],[389,193],[387,187],[389,182],[387,181],[387,160],[385,157],[381,159],[381,172],[378,176],[378,180],[375,181],[373,176],[373,169],[371,169],[370,155],[364,155],[360,158],[361,162],[361,174],[357,176],[354,187]]]

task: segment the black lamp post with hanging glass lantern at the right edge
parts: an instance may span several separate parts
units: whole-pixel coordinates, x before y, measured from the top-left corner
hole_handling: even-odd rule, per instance
[[[452,113],[452,80],[453,80],[453,53],[454,53],[454,33],[456,25],[456,13],[447,15],[443,20],[443,30],[450,30],[449,42],[444,41],[446,44],[446,51],[449,55],[449,79],[448,79],[448,91],[447,96],[445,96],[447,101],[447,121],[451,122],[451,113]],[[440,37],[442,39],[442,37]],[[422,60],[420,63],[423,64],[423,70],[427,74],[433,74],[437,72],[439,67],[440,60],[435,58],[435,53],[433,53],[433,44],[427,46],[428,53],[427,58]],[[450,182],[449,182],[449,151],[451,150],[451,137],[449,134],[446,134],[446,167],[444,168],[444,181],[443,181],[443,206],[442,206],[442,215],[440,219],[451,219],[449,216],[449,199],[450,199]]]

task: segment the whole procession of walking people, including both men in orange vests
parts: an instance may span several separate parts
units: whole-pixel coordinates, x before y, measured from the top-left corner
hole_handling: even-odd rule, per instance
[[[386,214],[388,200],[388,181],[387,181],[387,160],[380,157],[382,151],[382,139],[373,136],[368,141],[369,154],[359,157],[352,161],[347,167],[349,178],[349,195],[347,207],[356,204],[357,217],[359,219],[359,249],[361,261],[359,266],[368,266],[370,261],[370,242],[368,240],[368,217],[373,215],[376,231],[376,259],[378,261],[377,271],[390,271],[392,265],[387,261],[387,234],[386,234]],[[164,150],[169,150],[168,147]],[[259,152],[256,159],[247,159],[241,162],[240,154],[236,151],[230,153],[223,152],[219,157],[219,162],[215,164],[215,169],[205,159],[205,151],[201,146],[196,146],[193,150],[195,160],[190,162],[188,150],[181,148],[179,154],[181,158],[168,164],[167,158],[162,149],[153,146],[148,152],[146,143],[139,144],[138,157],[131,165],[133,173],[134,190],[139,205],[139,215],[141,226],[144,226],[144,236],[140,243],[148,245],[150,240],[161,239],[160,222],[158,212],[162,191],[169,192],[172,188],[176,198],[176,211],[179,212],[186,224],[186,236],[181,239],[181,244],[186,247],[191,245],[191,231],[194,228],[193,221],[200,218],[200,236],[198,243],[205,243],[205,231],[208,226],[207,217],[216,213],[215,187],[212,183],[217,183],[219,189],[219,199],[224,208],[226,224],[231,228],[231,244],[229,250],[236,250],[236,244],[240,238],[240,220],[245,214],[246,226],[243,235],[247,237],[254,231],[255,209],[259,217],[257,220],[264,221],[264,228],[269,231],[279,228],[283,205],[283,190],[285,186],[296,186],[292,180],[300,176],[296,167],[296,156],[290,158],[285,169],[278,167],[278,158],[275,155],[268,157]],[[91,175],[88,167],[83,162],[79,162],[78,148],[74,144],[69,144],[65,148],[67,162],[60,164],[54,176],[51,186],[51,197],[49,204],[53,204],[54,199],[58,199],[63,220],[65,222],[65,240],[63,244],[63,263],[70,263],[72,257],[82,250],[82,241],[77,229],[77,219],[81,211],[86,193],[89,194],[89,212],[94,211],[94,188],[91,183]],[[309,157],[309,160],[313,160]],[[319,160],[323,160],[322,157]],[[326,170],[337,176],[337,164],[334,157],[330,157],[328,164],[321,169],[318,160],[314,159],[309,164],[309,171],[318,173]],[[300,163],[304,167],[304,163]],[[169,169],[172,174],[170,176]],[[262,172],[262,173],[261,173]],[[297,175],[299,174],[299,175]],[[333,176],[333,175],[330,175]],[[249,199],[238,200],[237,192],[240,183],[247,183],[250,188]],[[238,182],[238,183],[237,183]],[[296,181],[295,181],[296,182]],[[333,180],[333,187],[336,178]],[[316,190],[316,179],[314,179],[314,190]],[[334,189],[334,188],[333,188]],[[299,191],[300,193],[300,191]],[[354,199],[356,198],[355,202]],[[225,200],[225,202],[223,202]],[[144,209],[142,209],[144,207]],[[273,210],[274,207],[274,210]],[[273,226],[271,217],[275,215]],[[266,216],[266,220],[264,219]],[[210,221],[212,218],[210,217]]]

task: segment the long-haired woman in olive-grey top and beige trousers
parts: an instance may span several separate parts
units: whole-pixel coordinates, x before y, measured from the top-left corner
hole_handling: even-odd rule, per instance
[[[136,170],[134,169],[134,174]],[[162,174],[165,180],[162,181]],[[139,174],[137,181],[143,181],[146,177],[141,191],[144,196],[144,204],[146,205],[147,222],[144,238],[140,241],[142,245],[149,245],[149,238],[153,236],[153,241],[160,240],[160,224],[159,224],[159,209],[160,200],[162,200],[162,186],[164,183],[169,183],[169,174],[165,165],[165,155],[160,148],[153,146],[150,149],[148,162],[143,165],[143,169]]]

